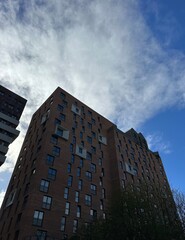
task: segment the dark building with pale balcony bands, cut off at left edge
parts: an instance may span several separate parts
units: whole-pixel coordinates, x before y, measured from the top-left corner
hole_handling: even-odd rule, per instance
[[[25,104],[24,98],[0,85],[0,165],[6,159],[8,146],[19,135],[16,127]]]

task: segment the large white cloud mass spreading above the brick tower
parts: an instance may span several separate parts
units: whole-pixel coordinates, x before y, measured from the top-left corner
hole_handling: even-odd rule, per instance
[[[185,56],[160,46],[135,0],[0,1],[0,55],[0,84],[28,99],[1,171],[12,171],[24,126],[57,86],[123,130],[184,107]]]

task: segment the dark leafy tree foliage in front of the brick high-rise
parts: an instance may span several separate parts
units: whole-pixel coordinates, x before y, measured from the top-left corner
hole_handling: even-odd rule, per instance
[[[88,227],[82,226],[78,237],[80,240],[185,239],[172,196],[155,187],[151,191],[146,185],[115,193],[106,220],[98,219]]]

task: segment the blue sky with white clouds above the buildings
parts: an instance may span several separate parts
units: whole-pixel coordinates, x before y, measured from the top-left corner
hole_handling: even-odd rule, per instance
[[[0,84],[28,101],[0,205],[31,116],[58,86],[142,132],[185,192],[184,23],[184,0],[0,0]]]

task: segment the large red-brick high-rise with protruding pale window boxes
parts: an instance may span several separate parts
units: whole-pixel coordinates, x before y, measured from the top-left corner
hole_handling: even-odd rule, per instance
[[[141,133],[57,88],[32,117],[0,212],[0,240],[65,239],[102,217],[114,191],[145,181],[170,192]]]

